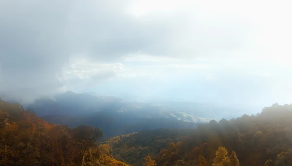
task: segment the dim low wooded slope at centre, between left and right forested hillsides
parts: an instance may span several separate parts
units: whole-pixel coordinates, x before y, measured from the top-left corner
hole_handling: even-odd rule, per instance
[[[142,166],[144,156],[159,155],[171,142],[179,142],[194,129],[153,129],[108,138],[115,159]]]

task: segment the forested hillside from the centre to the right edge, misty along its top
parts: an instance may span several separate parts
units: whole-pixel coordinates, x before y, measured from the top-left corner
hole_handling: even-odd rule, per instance
[[[170,135],[164,136],[165,131]],[[142,166],[148,154],[158,166],[292,166],[292,105],[274,104],[257,115],[212,120],[183,138],[185,134],[175,132],[182,130],[148,130],[109,142],[117,157],[135,166]]]

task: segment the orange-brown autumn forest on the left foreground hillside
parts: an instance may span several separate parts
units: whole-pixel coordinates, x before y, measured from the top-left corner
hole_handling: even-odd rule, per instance
[[[48,123],[0,100],[0,166],[127,166],[97,144],[102,136],[100,129]]]

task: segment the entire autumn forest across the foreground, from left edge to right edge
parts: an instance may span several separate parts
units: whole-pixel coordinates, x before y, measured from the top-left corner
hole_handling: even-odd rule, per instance
[[[292,105],[101,140],[103,131],[49,123],[0,100],[0,166],[292,166]]]

